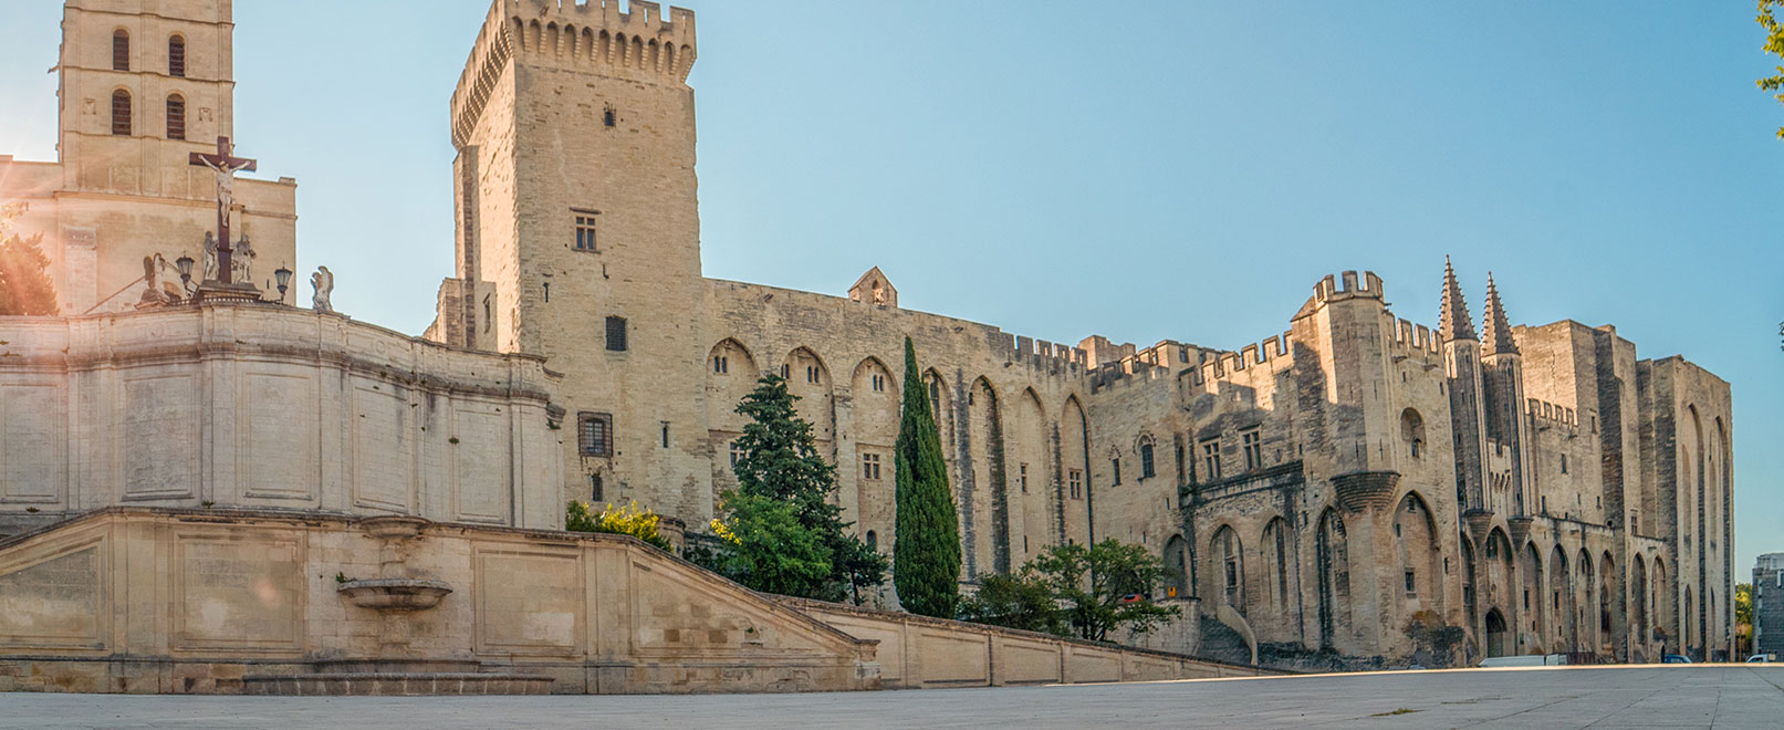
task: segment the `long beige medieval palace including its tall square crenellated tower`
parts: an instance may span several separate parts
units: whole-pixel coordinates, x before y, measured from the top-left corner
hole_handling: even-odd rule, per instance
[[[566,373],[583,436],[562,439],[567,498],[705,523],[731,482],[731,409],[780,373],[847,518],[885,550],[912,337],[963,580],[1119,537],[1179,573],[1167,593],[1276,653],[1730,646],[1714,375],[1638,361],[1611,327],[1511,327],[1491,282],[1475,334],[1454,275],[1438,330],[1345,273],[1236,352],[1017,337],[904,309],[878,268],[847,296],[703,278],[694,14],[630,7],[496,2],[451,105],[458,270],[428,336]]]

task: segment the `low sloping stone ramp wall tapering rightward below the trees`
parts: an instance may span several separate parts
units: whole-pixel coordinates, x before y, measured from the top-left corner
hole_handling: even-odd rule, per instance
[[[979,623],[783,596],[776,600],[851,635],[878,641],[880,682],[885,689],[1277,675],[1270,669],[1197,660],[1181,653],[1070,641]]]

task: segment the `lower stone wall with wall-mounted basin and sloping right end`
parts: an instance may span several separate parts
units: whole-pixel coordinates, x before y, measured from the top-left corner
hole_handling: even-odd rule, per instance
[[[405,607],[392,584],[448,593]],[[241,693],[332,668],[573,694],[880,685],[871,641],[621,535],[114,507],[0,543],[0,691]]]

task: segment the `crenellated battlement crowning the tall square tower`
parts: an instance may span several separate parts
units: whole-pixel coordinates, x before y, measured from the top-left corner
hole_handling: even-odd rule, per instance
[[[632,0],[496,0],[451,96],[453,143],[464,145],[510,59],[599,68],[639,79],[687,82],[698,43],[694,11]]]

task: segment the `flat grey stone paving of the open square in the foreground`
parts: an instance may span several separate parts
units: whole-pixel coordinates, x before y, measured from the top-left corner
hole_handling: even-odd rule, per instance
[[[1529,668],[835,694],[0,694],[7,728],[1779,728],[1784,666]]]

